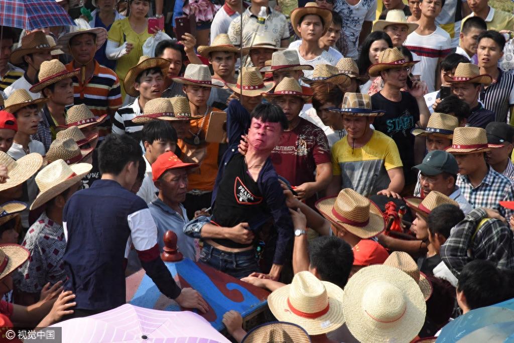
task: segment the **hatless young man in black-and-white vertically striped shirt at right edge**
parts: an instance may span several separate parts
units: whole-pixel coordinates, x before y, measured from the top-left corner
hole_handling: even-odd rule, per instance
[[[498,61],[503,56],[505,39],[502,34],[488,30],[479,35],[478,55],[480,74],[492,77],[492,83],[480,92],[480,101],[484,108],[496,113],[496,121],[512,123],[514,107],[514,75],[504,73],[498,68]]]

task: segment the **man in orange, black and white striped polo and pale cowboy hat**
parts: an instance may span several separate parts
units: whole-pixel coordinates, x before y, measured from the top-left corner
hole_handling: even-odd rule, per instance
[[[99,128],[103,139],[111,132],[111,120],[122,103],[120,80],[113,70],[95,60],[95,53],[107,39],[107,31],[103,27],[91,28],[83,19],[76,19],[75,24],[59,38],[58,44],[73,57],[66,69],[71,72],[80,68],[80,74],[72,77],[74,103],[86,104],[95,116],[107,115]]]

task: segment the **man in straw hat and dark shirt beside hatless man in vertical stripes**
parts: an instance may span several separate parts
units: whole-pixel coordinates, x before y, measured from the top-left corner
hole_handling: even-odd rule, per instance
[[[484,86],[491,84],[492,78],[480,74],[478,65],[459,63],[453,76],[444,78],[451,85],[453,94],[469,105],[471,114],[466,120],[468,126],[485,129],[487,124],[495,121],[495,113],[486,110],[479,102],[480,93]]]

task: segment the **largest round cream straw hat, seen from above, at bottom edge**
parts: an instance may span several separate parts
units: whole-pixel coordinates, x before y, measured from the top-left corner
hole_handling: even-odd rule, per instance
[[[371,265],[344,287],[346,327],[360,342],[408,343],[425,322],[427,304],[419,285],[400,269]]]

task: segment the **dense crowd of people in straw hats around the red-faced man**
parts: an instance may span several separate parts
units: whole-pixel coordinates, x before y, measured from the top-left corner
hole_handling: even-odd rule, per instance
[[[141,268],[206,313],[161,260],[168,230],[185,258],[271,292],[279,322],[246,332],[225,313],[237,342],[429,341],[514,297],[511,13],[173,3],[2,28],[2,327],[117,308]],[[149,25],[170,13],[196,33]]]

